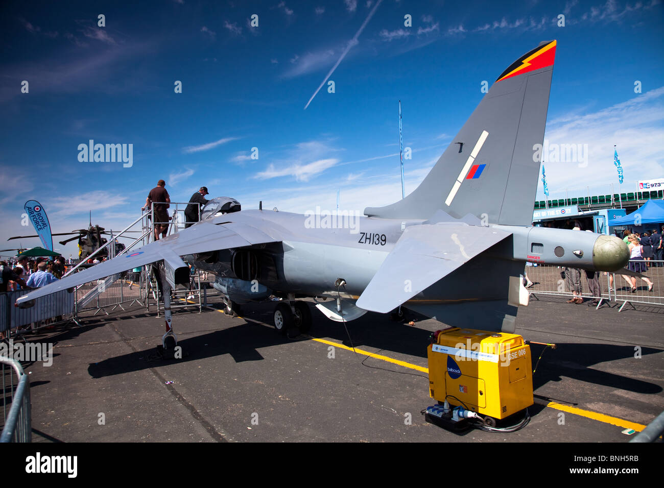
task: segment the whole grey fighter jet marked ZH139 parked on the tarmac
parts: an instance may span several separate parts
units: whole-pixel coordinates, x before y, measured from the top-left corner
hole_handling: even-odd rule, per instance
[[[542,42],[511,64],[405,199],[353,222],[213,199],[190,228],[37,289],[19,306],[156,263],[168,309],[169,287],[189,283],[184,256],[216,275],[229,311],[281,297],[281,331],[309,327],[298,299],[313,297],[337,321],[404,306],[448,325],[513,332],[527,304],[525,262],[611,272],[629,260],[615,236],[531,226],[555,50],[556,41]],[[173,337],[168,311],[166,319]]]

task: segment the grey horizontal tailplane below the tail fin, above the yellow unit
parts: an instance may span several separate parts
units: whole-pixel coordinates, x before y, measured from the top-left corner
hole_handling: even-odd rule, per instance
[[[504,230],[458,223],[408,227],[356,304],[387,313],[509,236]]]

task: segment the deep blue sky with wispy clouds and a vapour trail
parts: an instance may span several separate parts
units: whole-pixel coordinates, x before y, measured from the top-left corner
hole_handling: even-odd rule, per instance
[[[546,163],[550,191],[617,183],[614,144],[623,191],[664,177],[660,0],[5,2],[0,13],[5,243],[32,233],[21,226],[28,199],[54,232],[86,226],[89,210],[117,230],[158,179],[172,201],[205,185],[243,208],[332,209],[337,189],[342,208],[392,203],[398,100],[410,193],[481,100],[481,83],[550,39],[545,138],[588,147],[585,162]],[[305,110],[337,63],[335,92],[325,84]],[[133,165],[78,161],[89,139],[133,144]]]

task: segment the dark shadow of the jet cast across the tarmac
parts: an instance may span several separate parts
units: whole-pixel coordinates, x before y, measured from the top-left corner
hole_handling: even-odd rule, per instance
[[[179,345],[183,348],[184,357],[173,361],[196,361],[225,354],[231,355],[237,363],[261,361],[264,358],[258,353],[258,349],[297,340],[279,335],[268,324],[272,316],[271,307],[270,304],[256,304],[245,307],[248,313],[246,314],[247,317],[243,317],[244,323],[197,335],[196,337],[181,339]],[[344,345],[351,346],[343,323],[332,322],[323,319],[323,317],[317,319],[318,312],[315,310],[311,312],[314,317],[312,333],[315,337],[329,337]],[[180,312],[177,315],[183,315],[183,313]],[[138,318],[152,317],[153,315],[137,313],[132,316]],[[422,316],[410,313],[405,321],[411,318],[419,319],[420,317]],[[100,322],[103,322],[102,317],[100,317]],[[86,327],[88,325],[90,324],[86,324]],[[367,313],[360,319],[346,323],[346,327],[351,336],[352,345],[359,349],[371,347],[380,351],[388,351],[388,353],[426,359],[426,347],[430,343],[431,335],[428,330],[410,327],[402,321],[391,321],[388,315],[376,313]],[[534,369],[543,349],[543,346],[531,345]],[[648,347],[641,349],[641,355],[660,352],[659,349]],[[100,378],[168,363],[162,359],[155,359],[154,353],[155,349],[151,348],[105,359],[100,363],[90,364],[88,372],[93,378]],[[610,386],[631,392],[645,394],[662,392],[662,388],[657,384],[629,378],[629,376],[603,372],[591,367],[607,361],[633,358],[634,354],[635,350],[631,346],[588,343],[558,344],[557,349],[544,351],[544,355],[542,355],[542,359],[537,365],[537,372],[533,376],[533,389],[537,391],[540,386],[547,382],[558,382],[562,379],[562,376],[566,376],[591,384]]]

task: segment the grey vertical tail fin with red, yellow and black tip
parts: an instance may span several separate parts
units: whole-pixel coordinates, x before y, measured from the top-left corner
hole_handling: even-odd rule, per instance
[[[444,210],[491,224],[530,225],[556,41],[542,42],[507,68],[420,186],[365,214],[429,218]],[[541,148],[541,146],[540,146]]]

